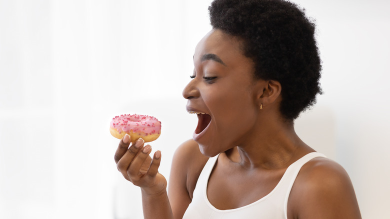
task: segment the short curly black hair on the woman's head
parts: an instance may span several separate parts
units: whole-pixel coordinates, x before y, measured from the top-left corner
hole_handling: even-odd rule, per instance
[[[322,67],[315,24],[304,9],[284,0],[214,0],[208,10],[213,29],[242,39],[254,78],[280,82],[285,119],[316,102]]]

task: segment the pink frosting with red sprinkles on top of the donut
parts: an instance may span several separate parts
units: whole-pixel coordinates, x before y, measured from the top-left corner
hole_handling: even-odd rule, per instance
[[[161,122],[149,115],[123,114],[115,116],[112,118],[109,126],[115,128],[119,133],[132,131],[143,136],[159,134],[161,131]]]

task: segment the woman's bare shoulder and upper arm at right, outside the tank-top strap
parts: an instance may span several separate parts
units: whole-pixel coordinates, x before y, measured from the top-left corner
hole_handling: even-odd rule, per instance
[[[292,186],[288,208],[295,215],[290,218],[360,218],[347,172],[325,157],[313,158],[302,166]]]

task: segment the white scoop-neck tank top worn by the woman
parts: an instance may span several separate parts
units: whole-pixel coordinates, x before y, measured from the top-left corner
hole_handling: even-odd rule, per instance
[[[323,154],[318,152],[311,152],[304,155],[287,167],[280,181],[267,195],[248,205],[227,210],[219,210],[215,208],[207,199],[206,189],[208,177],[218,156],[211,157],[208,159],[199,175],[193,191],[192,201],[188,205],[188,208],[183,215],[183,219],[286,219],[287,200],[296,175],[303,164],[318,156],[325,157]]]

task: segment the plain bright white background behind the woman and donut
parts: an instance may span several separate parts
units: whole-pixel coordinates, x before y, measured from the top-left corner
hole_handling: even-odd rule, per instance
[[[296,0],[317,23],[324,94],[296,121],[344,166],[364,218],[390,201],[390,1]],[[210,0],[0,0],[0,218],[141,218],[116,170],[121,113],[162,121],[167,178],[191,137],[182,88]],[[293,106],[291,106],[293,107]]]

